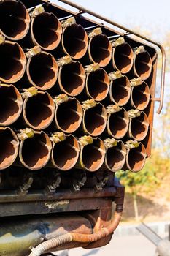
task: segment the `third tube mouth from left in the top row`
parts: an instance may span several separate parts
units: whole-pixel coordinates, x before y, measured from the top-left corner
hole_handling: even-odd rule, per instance
[[[74,23],[63,31],[62,46],[72,59],[81,59],[88,50],[88,35],[80,24]]]

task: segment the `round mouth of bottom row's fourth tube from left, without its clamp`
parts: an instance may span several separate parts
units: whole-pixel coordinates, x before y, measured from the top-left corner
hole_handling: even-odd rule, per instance
[[[85,170],[94,172],[104,163],[105,157],[104,143],[99,138],[93,138],[93,143],[81,148],[80,161]]]

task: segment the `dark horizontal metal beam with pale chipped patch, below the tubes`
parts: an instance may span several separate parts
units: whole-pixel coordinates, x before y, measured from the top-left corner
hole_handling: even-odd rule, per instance
[[[112,199],[105,198],[80,198],[63,200],[25,201],[15,203],[0,203],[0,217],[22,216],[32,214],[53,214],[73,211],[88,211],[102,208]]]

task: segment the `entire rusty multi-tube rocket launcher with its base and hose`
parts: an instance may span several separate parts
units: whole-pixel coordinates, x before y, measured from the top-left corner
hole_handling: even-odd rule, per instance
[[[0,237],[0,254],[7,250],[6,255],[28,255],[30,245],[37,246],[30,254],[37,256],[55,249],[107,244],[123,211],[124,188],[114,172],[137,172],[144,167],[150,156],[154,102],[160,101],[158,112],[163,106],[162,46],[69,0],[59,1],[78,11],[70,12],[47,0],[0,3],[0,80],[16,86],[8,86],[13,96],[9,91],[1,92],[4,86],[0,88],[1,125],[12,125],[0,127],[1,134],[4,132],[0,169],[6,169],[0,171],[0,216],[18,221],[11,227],[2,224],[4,230],[13,227],[16,237],[25,223],[22,215],[37,227],[36,234],[29,233],[30,226],[28,232],[24,229],[19,248],[12,231],[7,234],[5,230],[2,238],[13,244],[1,243]],[[83,13],[108,22],[111,28],[85,18]],[[11,19],[13,23],[8,22]],[[9,34],[3,30],[4,20]],[[112,25],[125,33],[115,31]],[[5,36],[21,39],[20,45]],[[155,98],[157,52],[142,39],[161,49],[159,99]],[[4,98],[7,102],[12,99],[10,108]],[[84,218],[81,223],[75,212]],[[55,226],[56,213],[63,214],[59,230],[45,236]],[[47,230],[46,216],[51,217]],[[82,225],[85,219],[93,226],[90,232]],[[79,226],[76,233],[69,230],[74,222]]]

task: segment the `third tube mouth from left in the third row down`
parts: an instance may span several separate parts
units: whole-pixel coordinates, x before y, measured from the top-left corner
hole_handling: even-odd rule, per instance
[[[69,98],[55,109],[55,124],[66,133],[75,132],[82,122],[82,106],[76,98]]]

